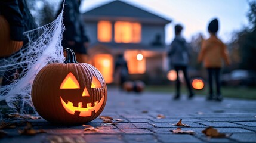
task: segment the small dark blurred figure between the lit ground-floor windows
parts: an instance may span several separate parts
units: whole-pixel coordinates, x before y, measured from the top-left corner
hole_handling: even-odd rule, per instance
[[[119,54],[115,62],[114,79],[120,88],[123,88],[124,83],[128,80],[127,61],[124,59],[124,54]]]

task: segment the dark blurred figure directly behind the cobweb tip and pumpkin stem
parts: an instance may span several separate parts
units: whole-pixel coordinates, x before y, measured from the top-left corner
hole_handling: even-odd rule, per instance
[[[87,48],[89,39],[85,33],[85,25],[82,14],[79,12],[80,0],[66,0],[63,11],[63,48],[70,48],[76,54],[76,60],[80,63],[88,62]],[[62,5],[62,4],[61,4]],[[62,7],[60,7],[60,10]],[[59,12],[60,13],[60,12]]]

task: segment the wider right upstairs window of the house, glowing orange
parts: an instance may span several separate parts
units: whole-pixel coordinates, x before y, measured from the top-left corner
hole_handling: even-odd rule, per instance
[[[139,43],[141,41],[141,24],[117,21],[115,23],[116,43]]]

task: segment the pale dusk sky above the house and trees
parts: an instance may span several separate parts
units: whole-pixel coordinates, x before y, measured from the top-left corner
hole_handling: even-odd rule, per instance
[[[84,0],[81,12],[106,4],[113,0]],[[232,32],[248,25],[246,13],[249,10],[246,0],[124,0],[153,14],[172,20],[166,25],[166,44],[174,38],[175,24],[184,26],[183,36],[190,41],[193,35],[201,32],[208,38],[207,26],[210,20],[218,18],[218,36],[223,42],[232,38]]]

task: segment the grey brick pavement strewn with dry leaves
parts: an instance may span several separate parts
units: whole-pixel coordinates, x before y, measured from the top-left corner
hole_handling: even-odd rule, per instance
[[[52,125],[44,119],[28,120],[35,129],[44,129],[47,133],[35,136],[18,135],[18,126],[4,129],[8,136],[0,142],[256,142],[256,100],[238,100],[224,98],[223,102],[205,101],[205,97],[196,96],[187,100],[172,100],[172,94],[157,92],[122,92],[108,89],[107,105],[103,116],[122,119],[116,125],[103,125],[97,118],[87,123],[98,127],[98,132],[84,131],[83,126]],[[157,116],[162,114],[163,119]],[[174,134],[172,125],[183,119],[195,135]],[[5,120],[7,121],[7,120]],[[21,122],[23,120],[16,120]],[[212,126],[227,138],[208,138],[202,130]]]

